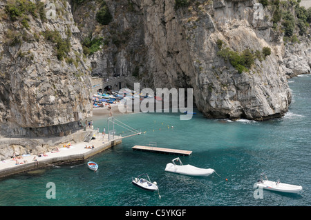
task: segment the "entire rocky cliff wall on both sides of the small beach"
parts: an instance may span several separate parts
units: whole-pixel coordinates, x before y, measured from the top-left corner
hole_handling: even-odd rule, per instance
[[[70,133],[91,116],[91,72],[134,76],[140,88],[194,88],[206,117],[263,120],[288,110],[287,76],[310,71],[308,43],[285,48],[272,10],[263,8],[258,18],[256,1],[189,0],[177,7],[175,0],[59,0],[55,19],[42,16],[48,1],[28,2],[35,10],[19,14],[7,1],[0,5],[3,136]],[[102,25],[96,14],[104,2],[112,19]],[[219,55],[224,48],[271,53],[238,71]]]

